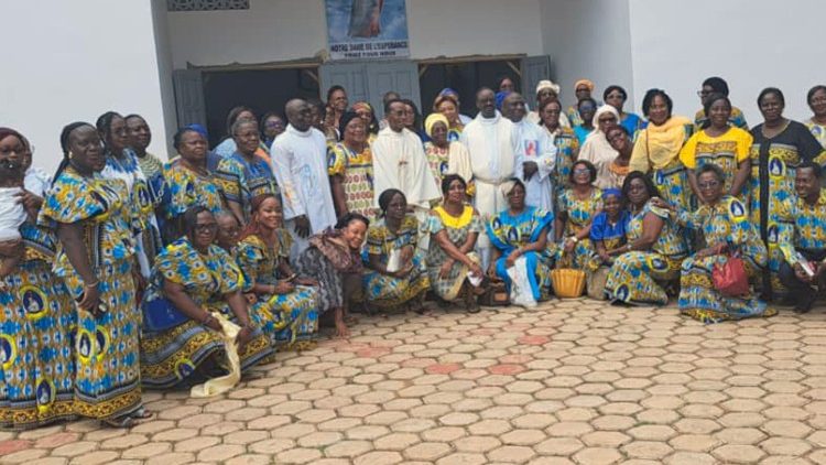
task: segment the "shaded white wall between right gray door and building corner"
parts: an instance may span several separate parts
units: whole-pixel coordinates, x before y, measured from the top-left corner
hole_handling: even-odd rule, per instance
[[[540,0],[544,52],[551,56],[561,99],[573,105],[574,83],[589,78],[601,100],[605,87],[618,84],[634,101],[628,0]]]

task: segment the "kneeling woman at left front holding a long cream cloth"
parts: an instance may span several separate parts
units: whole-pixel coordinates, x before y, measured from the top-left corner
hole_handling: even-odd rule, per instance
[[[274,355],[261,320],[250,314],[241,295],[241,272],[220,247],[214,245],[218,224],[205,206],[184,213],[186,235],[166,246],[155,259],[143,312],[172,305],[186,316],[177,326],[141,335],[141,382],[166,389],[184,380],[209,378],[224,361],[226,346],[218,312],[241,326],[238,334],[241,369]]]

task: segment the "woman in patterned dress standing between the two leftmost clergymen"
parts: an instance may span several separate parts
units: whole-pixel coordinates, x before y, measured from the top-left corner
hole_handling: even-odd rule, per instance
[[[355,111],[345,111],[339,125],[341,142],[327,149],[327,174],[336,213],[339,217],[348,212],[373,217],[373,156],[367,126]]]

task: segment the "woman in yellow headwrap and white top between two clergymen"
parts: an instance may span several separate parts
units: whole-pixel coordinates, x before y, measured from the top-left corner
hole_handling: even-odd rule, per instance
[[[431,113],[424,121],[424,130],[431,138],[424,143],[424,153],[436,185],[442,185],[442,180],[447,174],[458,174],[463,180],[471,180],[474,176],[470,170],[470,154],[461,142],[448,140],[448,126],[447,117],[442,113]],[[468,182],[470,194],[472,181]]]

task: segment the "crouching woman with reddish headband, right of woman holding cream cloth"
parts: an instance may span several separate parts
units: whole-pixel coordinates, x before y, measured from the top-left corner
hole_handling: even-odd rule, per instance
[[[318,283],[290,267],[292,237],[283,229],[281,201],[263,194],[253,197],[250,207],[250,223],[236,250],[243,292],[265,318],[264,331],[275,348],[311,348],[318,328],[318,293],[313,288]]]

